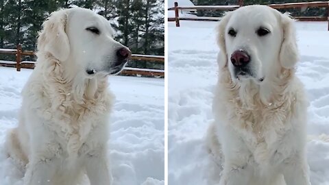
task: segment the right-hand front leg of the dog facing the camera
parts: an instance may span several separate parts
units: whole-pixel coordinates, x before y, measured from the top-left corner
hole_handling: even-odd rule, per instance
[[[309,169],[304,155],[284,160],[284,180],[287,185],[310,185]]]

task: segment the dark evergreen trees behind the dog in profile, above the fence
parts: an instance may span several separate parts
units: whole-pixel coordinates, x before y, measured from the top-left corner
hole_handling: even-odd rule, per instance
[[[0,0],[0,48],[14,49],[21,43],[23,50],[35,51],[47,16],[72,6],[89,8],[108,19],[117,31],[116,39],[133,53],[164,55],[164,0]]]

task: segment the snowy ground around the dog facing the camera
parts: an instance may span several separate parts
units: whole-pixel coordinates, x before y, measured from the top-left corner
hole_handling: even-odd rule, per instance
[[[169,184],[207,184],[211,169],[204,136],[212,121],[217,80],[215,22],[169,23]],[[308,134],[329,134],[328,23],[296,23],[304,82],[310,107]],[[329,184],[329,143],[310,139],[308,163],[313,185]]]

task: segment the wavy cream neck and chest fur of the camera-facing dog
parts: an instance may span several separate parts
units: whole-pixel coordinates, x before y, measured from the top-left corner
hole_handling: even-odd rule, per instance
[[[282,93],[264,103],[254,86],[219,83],[214,110],[243,140],[258,164],[271,162],[284,136],[292,129],[296,93]],[[248,89],[249,88],[249,89]]]

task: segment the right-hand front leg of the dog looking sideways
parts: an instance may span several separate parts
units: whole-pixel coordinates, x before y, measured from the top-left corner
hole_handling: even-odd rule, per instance
[[[112,184],[105,152],[100,155],[88,155],[86,160],[86,172],[90,180],[90,185]]]

